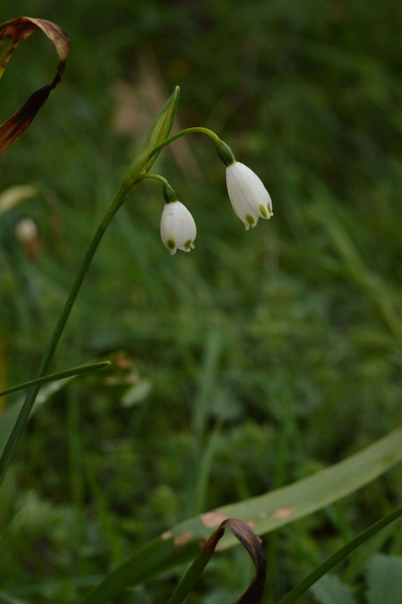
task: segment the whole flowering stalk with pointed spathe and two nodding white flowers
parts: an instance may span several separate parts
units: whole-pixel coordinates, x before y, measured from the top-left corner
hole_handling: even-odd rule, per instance
[[[47,369],[53,358],[59,339],[62,336],[65,325],[76,301],[78,292],[82,286],[86,271],[92,262],[92,258],[108,228],[111,220],[137,189],[143,179],[153,178],[163,183],[164,205],[161,216],[161,239],[173,255],[177,249],[189,252],[195,247],[196,226],[189,210],[178,201],[175,191],[170,187],[166,178],[158,174],[149,173],[149,169],[158,156],[158,153],[168,144],[191,133],[203,133],[215,142],[216,153],[226,166],[226,181],[230,201],[236,215],[242,220],[246,230],[255,226],[258,218],[269,218],[272,216],[271,198],[262,184],[261,180],[245,165],[236,161],[235,155],[230,147],[222,141],[212,130],[204,127],[193,127],[181,130],[169,137],[170,129],[175,117],[180,89],[177,86],[172,96],[166,101],[154,124],[151,127],[143,149],[137,155],[123,178],[117,193],[114,196],[105,216],[97,228],[94,238],[85,254],[82,265],[71,287],[70,294],[57,321],[53,334],[51,335],[47,349],[35,376],[36,384],[28,391],[24,405],[22,405],[18,419],[11,431],[7,444],[0,457],[0,484],[10,464],[13,453],[18,445],[19,438],[30,416],[31,409],[39,391],[41,378],[47,373]],[[39,381],[39,383],[37,382]]]

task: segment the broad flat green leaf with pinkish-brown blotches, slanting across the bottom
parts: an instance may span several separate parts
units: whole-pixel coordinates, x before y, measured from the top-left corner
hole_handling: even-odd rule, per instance
[[[311,477],[186,520],[137,550],[128,561],[107,574],[84,602],[109,602],[127,586],[142,583],[191,560],[198,554],[199,544],[209,537],[210,530],[227,518],[240,518],[257,535],[264,535],[360,489],[401,459],[402,429],[399,428],[374,445]],[[217,549],[232,547],[235,543],[234,536],[225,535]]]

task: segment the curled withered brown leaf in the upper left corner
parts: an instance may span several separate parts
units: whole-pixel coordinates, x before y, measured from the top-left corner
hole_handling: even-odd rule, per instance
[[[0,126],[0,156],[30,125],[39,109],[41,109],[47,100],[50,91],[56,88],[62,79],[65,62],[68,53],[70,53],[70,37],[59,25],[46,19],[19,17],[0,25],[0,50],[1,45],[5,45],[6,48],[5,52],[0,53],[0,74],[4,71],[19,41],[27,40],[36,30],[42,30],[46,34],[51,42],[53,42],[54,48],[59,55],[60,61],[59,65],[57,65],[56,76],[54,76],[53,82],[34,92],[26,103]]]

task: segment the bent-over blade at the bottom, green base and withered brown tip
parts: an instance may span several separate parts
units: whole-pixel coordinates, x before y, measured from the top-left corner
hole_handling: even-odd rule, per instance
[[[259,604],[261,602],[265,586],[265,574],[267,572],[267,561],[265,560],[261,539],[245,522],[236,518],[229,518],[228,520],[224,520],[219,528],[212,533],[167,604],[181,604],[184,602],[210,561],[219,539],[224,535],[225,528],[229,528],[236,539],[244,545],[257,569],[253,582],[251,582],[237,604]]]

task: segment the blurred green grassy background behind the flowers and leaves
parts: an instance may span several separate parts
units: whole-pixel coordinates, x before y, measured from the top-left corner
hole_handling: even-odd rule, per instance
[[[164,249],[156,182],[109,228],[52,369],[120,351],[118,367],[41,406],[0,492],[1,589],[42,604],[76,601],[173,523],[297,480],[401,423],[402,4],[13,0],[0,22],[23,14],[57,22],[72,46],[62,83],[1,158],[1,191],[36,193],[0,216],[0,390],[33,376],[175,85],[173,131],[216,130],[274,209],[246,233],[212,141],[193,135],[154,171],[192,212],[196,249]],[[0,121],[56,63],[42,34],[20,43]],[[39,228],[33,249],[16,239],[22,217]],[[265,602],[401,495],[397,468],[268,535]],[[358,583],[371,551],[400,553],[401,541],[392,525],[339,572]],[[191,602],[235,601],[252,574],[239,548],[219,554]],[[177,578],[119,602],[165,602]]]

